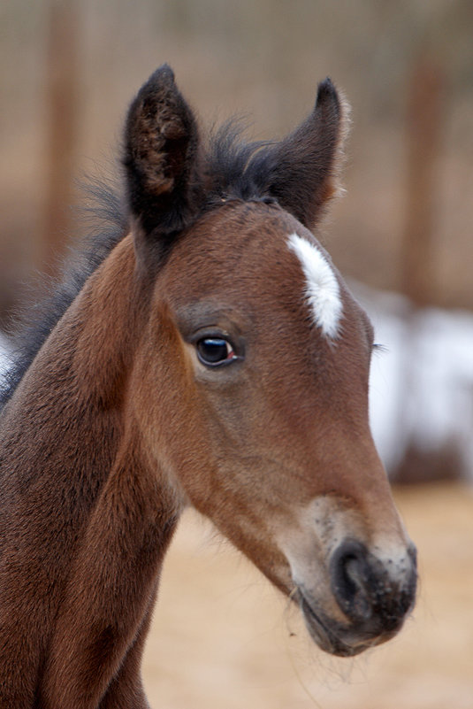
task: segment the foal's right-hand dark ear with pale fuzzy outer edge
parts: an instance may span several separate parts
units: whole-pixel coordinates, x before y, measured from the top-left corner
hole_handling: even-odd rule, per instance
[[[339,167],[347,133],[348,106],[330,79],[319,84],[313,112],[294,133],[256,153],[259,189],[306,227],[315,226],[324,206],[339,193]]]

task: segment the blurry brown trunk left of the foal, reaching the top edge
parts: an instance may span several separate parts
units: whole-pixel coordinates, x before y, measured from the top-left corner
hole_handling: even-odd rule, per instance
[[[79,116],[79,27],[75,0],[50,0],[46,60],[46,194],[42,271],[54,275],[70,231]]]

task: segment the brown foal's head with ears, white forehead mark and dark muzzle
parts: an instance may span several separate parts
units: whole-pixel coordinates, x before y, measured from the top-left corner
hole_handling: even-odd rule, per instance
[[[393,636],[415,550],[368,421],[373,332],[312,235],[337,189],[328,80],[279,143],[202,145],[162,67],[126,124],[147,327],[132,406],[156,474],[301,605],[324,650]]]

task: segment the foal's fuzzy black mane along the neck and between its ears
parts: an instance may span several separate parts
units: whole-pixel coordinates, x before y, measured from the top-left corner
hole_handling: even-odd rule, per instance
[[[241,120],[231,119],[210,135],[203,158],[202,212],[214,209],[226,199],[275,201],[263,188],[263,173],[271,159],[271,143],[247,143],[242,139],[242,132]],[[22,318],[11,366],[0,373],[0,411],[88,277],[126,235],[128,217],[118,191],[93,181],[86,192],[94,201],[94,206],[86,212],[94,218],[95,224],[98,221],[100,228],[95,227],[95,233],[88,237],[84,248],[72,254],[72,266],[65,268],[62,280],[57,285],[47,284],[45,290],[52,290],[52,295],[27,309]]]

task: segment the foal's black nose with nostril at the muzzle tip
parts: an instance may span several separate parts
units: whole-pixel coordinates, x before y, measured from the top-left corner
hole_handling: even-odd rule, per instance
[[[382,562],[355,540],[346,540],[331,560],[332,593],[353,623],[367,631],[401,627],[416,596],[416,552]]]

